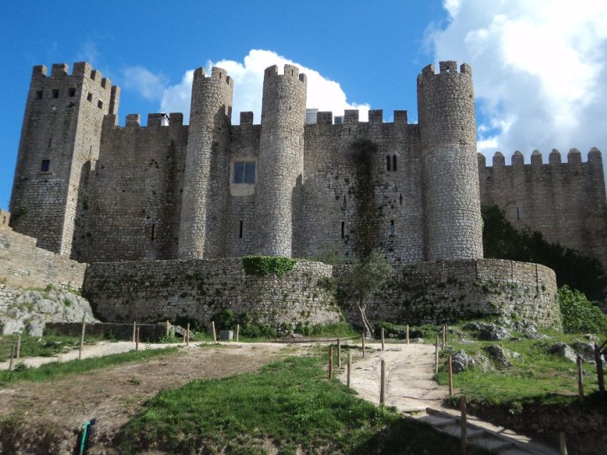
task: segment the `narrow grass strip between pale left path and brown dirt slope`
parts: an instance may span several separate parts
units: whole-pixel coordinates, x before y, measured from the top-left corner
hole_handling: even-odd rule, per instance
[[[85,358],[83,360],[70,360],[68,362],[46,363],[38,368],[23,368],[17,364],[16,370],[0,371],[0,386],[8,385],[11,382],[33,381],[44,382],[63,378],[67,375],[76,375],[86,373],[90,370],[97,370],[111,365],[117,365],[127,362],[142,362],[149,358],[159,355],[172,354],[177,348],[149,349],[149,350],[131,350],[127,353],[105,355],[104,357]]]

